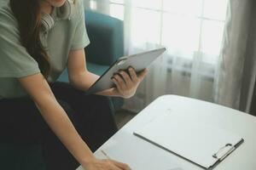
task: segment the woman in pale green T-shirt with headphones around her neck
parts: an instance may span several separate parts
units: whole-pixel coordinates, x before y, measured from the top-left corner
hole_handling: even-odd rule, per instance
[[[146,70],[120,71],[116,88],[86,96],[98,76],[85,67],[83,1],[1,0],[0,7],[0,143],[41,144],[47,169],[130,169],[91,150],[116,132],[102,96],[130,98]],[[66,65],[71,85],[55,82]]]

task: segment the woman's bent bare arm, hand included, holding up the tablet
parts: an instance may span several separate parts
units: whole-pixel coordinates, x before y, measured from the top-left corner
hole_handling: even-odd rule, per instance
[[[84,49],[71,51],[68,58],[68,77],[69,82],[80,90],[88,90],[90,86],[96,82],[99,76],[91,73],[86,68]],[[119,74],[113,76],[113,83],[116,88],[97,93],[105,96],[119,96],[123,98],[131,98],[136,93],[137,87],[143,78],[146,76],[147,70],[142,71],[139,75],[134,69],[129,69],[129,75],[125,71],[120,71]]]

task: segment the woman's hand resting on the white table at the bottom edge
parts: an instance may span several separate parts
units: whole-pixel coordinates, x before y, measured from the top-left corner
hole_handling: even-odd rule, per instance
[[[95,160],[87,162],[84,166],[85,170],[131,170],[131,167],[125,163],[113,160]]]

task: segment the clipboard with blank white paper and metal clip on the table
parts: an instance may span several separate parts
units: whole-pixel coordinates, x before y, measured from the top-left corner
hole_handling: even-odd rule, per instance
[[[221,127],[193,122],[178,113],[165,113],[134,134],[204,169],[216,167],[244,142]]]

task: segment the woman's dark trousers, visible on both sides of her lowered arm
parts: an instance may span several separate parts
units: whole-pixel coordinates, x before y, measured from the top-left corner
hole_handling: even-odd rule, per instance
[[[51,83],[50,88],[90,150],[95,151],[117,131],[107,97],[85,95],[63,82]],[[0,99],[0,143],[40,144],[47,170],[79,166],[29,97]]]

